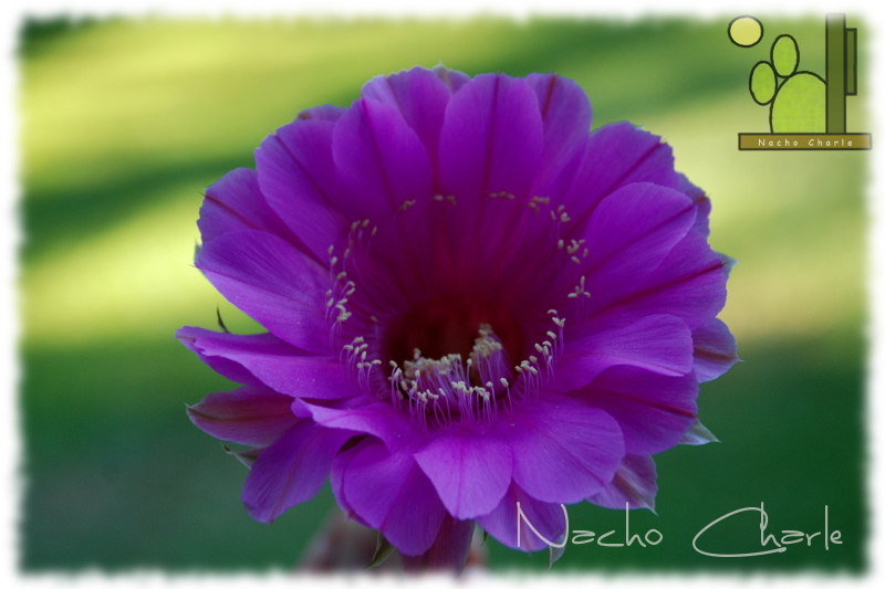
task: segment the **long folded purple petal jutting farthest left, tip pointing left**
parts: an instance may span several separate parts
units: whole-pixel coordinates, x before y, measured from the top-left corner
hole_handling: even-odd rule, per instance
[[[257,379],[279,392],[304,399],[341,399],[360,392],[337,358],[308,354],[272,334],[237,335],[185,327],[177,335],[215,370],[240,382]],[[251,378],[244,379],[242,374]]]

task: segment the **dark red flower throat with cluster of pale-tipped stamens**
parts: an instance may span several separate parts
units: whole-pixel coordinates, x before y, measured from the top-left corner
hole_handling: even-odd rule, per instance
[[[391,400],[424,427],[489,421],[514,398],[539,391],[551,374],[564,324],[555,311],[559,334],[548,332],[528,355],[520,326],[502,307],[471,303],[434,299],[404,315],[384,340]],[[482,317],[493,317],[500,334]]]

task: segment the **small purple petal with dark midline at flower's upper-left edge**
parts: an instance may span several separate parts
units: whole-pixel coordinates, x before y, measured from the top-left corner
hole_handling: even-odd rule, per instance
[[[206,189],[197,221],[202,242],[219,235],[257,229],[292,240],[285,224],[264,200],[254,170],[237,168]]]

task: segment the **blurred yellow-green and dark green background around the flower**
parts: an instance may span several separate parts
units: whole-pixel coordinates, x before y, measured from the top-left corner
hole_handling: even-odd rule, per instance
[[[735,14],[737,15],[737,14]],[[768,19],[759,45],[710,21],[101,20],[22,23],[20,343],[24,570],[291,569],[333,505],[326,488],[273,525],[252,522],[246,470],[194,428],[184,403],[232,386],[178,344],[181,325],[253,326],[191,266],[201,191],[299,111],[347,105],[372,76],[445,63],[471,75],[556,71],[576,80],[593,127],[629,119],[668,140],[710,194],[712,245],[738,259],[722,313],[743,362],[702,386],[721,443],[657,457],[654,547],[570,546],[556,570],[865,570],[864,292],[868,154],[738,151],[764,133],[753,64],[792,34],[800,70],[824,74],[824,17]],[[868,35],[848,132],[867,132]],[[695,534],[764,502],[768,532],[830,529],[709,558]],[[624,536],[623,512],[569,511],[572,529]],[[704,538],[757,551],[758,514]],[[544,569],[489,540],[496,569]]]

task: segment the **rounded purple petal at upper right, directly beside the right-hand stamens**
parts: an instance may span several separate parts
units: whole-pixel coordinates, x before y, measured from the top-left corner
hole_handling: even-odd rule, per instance
[[[584,231],[591,306],[605,306],[642,284],[695,222],[681,192],[634,183],[603,200]]]

